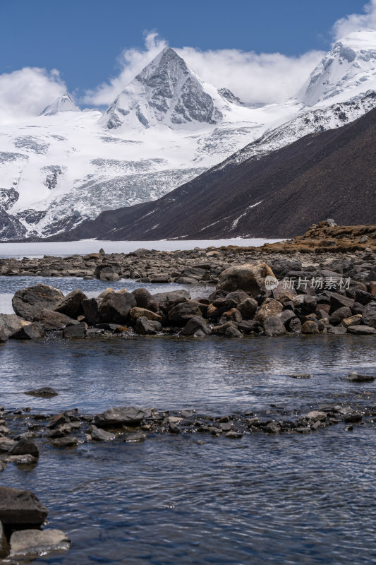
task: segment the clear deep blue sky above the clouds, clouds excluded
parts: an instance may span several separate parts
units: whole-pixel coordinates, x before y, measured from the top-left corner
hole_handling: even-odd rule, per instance
[[[362,0],[1,0],[0,73],[59,69],[68,88],[116,73],[123,49],[157,30],[171,47],[302,54],[327,50],[331,28]]]

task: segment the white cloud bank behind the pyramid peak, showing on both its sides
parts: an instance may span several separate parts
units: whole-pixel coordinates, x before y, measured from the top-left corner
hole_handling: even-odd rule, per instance
[[[119,75],[87,91],[84,102],[96,106],[111,104],[166,45],[156,32],[147,34],[145,49],[126,49],[119,58]],[[204,81],[229,88],[245,102],[287,100],[298,92],[324,56],[324,52],[319,51],[286,57],[280,53],[257,54],[238,49],[200,51],[193,47],[176,49],[176,52]]]

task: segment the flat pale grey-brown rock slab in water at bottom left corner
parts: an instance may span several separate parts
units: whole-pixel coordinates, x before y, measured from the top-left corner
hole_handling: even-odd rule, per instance
[[[66,551],[71,540],[60,530],[18,530],[11,535],[13,559],[34,559],[51,552]]]

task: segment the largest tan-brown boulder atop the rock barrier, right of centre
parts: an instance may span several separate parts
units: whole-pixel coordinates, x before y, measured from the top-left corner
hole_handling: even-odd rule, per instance
[[[272,269],[267,263],[258,263],[251,265],[237,265],[229,267],[219,275],[217,285],[218,290],[244,290],[249,292],[251,296],[256,297],[260,292],[265,292],[265,278],[267,276],[274,277]]]

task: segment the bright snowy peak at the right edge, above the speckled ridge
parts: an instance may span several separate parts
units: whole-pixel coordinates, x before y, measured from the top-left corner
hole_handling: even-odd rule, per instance
[[[298,97],[313,106],[329,99],[342,102],[367,90],[376,90],[375,30],[352,32],[337,41]]]

